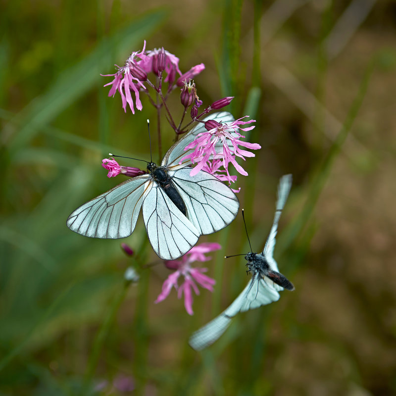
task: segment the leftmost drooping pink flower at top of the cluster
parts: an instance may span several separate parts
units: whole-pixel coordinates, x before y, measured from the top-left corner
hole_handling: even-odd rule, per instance
[[[111,85],[108,96],[112,96],[114,98],[116,91],[118,91],[121,95],[122,107],[124,111],[127,111],[126,105],[128,103],[132,114],[135,114],[135,108],[131,96],[131,90],[135,93],[136,108],[138,110],[142,110],[143,108],[142,102],[139,99],[139,89],[146,89],[142,81],[147,79],[147,75],[145,77],[145,72],[139,64],[141,60],[137,61],[135,57],[140,57],[141,59],[144,58],[146,56],[144,55],[145,48],[146,40],[142,51],[132,52],[129,58],[125,61],[124,66],[120,67],[115,65],[118,68],[116,73],[101,74],[101,76],[114,76],[114,80],[111,83],[104,85],[104,87]]]

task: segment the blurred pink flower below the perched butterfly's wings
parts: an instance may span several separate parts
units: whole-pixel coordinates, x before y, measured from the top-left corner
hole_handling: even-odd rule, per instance
[[[163,301],[169,296],[172,287],[174,287],[177,290],[178,298],[181,298],[184,294],[184,306],[186,307],[186,311],[189,315],[193,315],[192,289],[196,295],[199,294],[199,289],[196,282],[201,287],[213,292],[213,285],[216,283],[216,281],[203,274],[203,272],[207,271],[207,268],[192,268],[190,264],[194,261],[210,260],[211,257],[206,257],[204,253],[218,250],[220,248],[221,246],[216,243],[203,243],[193,247],[181,258],[181,260],[165,261],[165,266],[167,268],[175,269],[176,271],[170,274],[165,280],[162,285],[162,292],[154,302],[158,303]],[[177,281],[180,276],[184,277],[184,282],[179,287]]]

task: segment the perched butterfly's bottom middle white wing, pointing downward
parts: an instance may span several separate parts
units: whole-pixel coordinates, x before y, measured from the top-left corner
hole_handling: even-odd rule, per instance
[[[200,232],[156,184],[143,202],[143,218],[148,240],[157,255],[175,260],[198,241]]]

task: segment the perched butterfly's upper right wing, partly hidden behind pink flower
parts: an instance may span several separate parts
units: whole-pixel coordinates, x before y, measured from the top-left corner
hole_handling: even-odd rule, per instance
[[[230,123],[234,121],[234,117],[231,113],[228,113],[226,111],[221,111],[219,113],[213,113],[203,119],[203,121],[208,121],[208,120]],[[184,135],[179,141],[177,141],[171,148],[169,148],[168,152],[165,154],[162,160],[161,165],[167,167],[169,170],[176,170],[183,168],[188,164],[191,164],[190,159],[185,159],[180,165],[179,165],[179,161],[184,156],[191,154],[193,152],[193,149],[185,151],[184,148],[187,145],[189,145],[191,142],[193,142],[194,139],[197,137],[197,135],[200,134],[201,132],[206,132],[206,129],[204,127],[204,124],[199,123],[190,132],[186,133],[186,135]],[[219,149],[219,152],[220,151],[223,152],[223,146],[221,144],[221,141],[219,141],[219,143],[216,145],[216,148],[217,147]],[[230,147],[232,147],[232,145]]]

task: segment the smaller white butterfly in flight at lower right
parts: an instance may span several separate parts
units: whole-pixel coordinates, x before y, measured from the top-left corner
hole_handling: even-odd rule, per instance
[[[226,331],[231,319],[238,312],[245,312],[277,301],[280,297],[278,292],[283,289],[294,290],[293,284],[279,273],[278,265],[273,258],[278,221],[291,186],[292,175],[283,176],[278,186],[274,222],[264,249],[261,253],[249,252],[245,256],[248,272],[252,273],[250,282],[225,311],[193,333],[189,344],[195,350],[202,350],[213,344]]]

